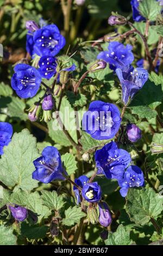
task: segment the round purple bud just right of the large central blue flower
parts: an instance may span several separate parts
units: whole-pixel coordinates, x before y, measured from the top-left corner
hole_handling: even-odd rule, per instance
[[[126,127],[127,137],[130,142],[136,142],[141,138],[141,130],[135,124],[128,124]]]

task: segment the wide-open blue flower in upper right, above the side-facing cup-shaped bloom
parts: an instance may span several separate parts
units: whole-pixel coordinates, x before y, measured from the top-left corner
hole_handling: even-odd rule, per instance
[[[98,54],[97,59],[103,59],[110,64],[110,69],[116,70],[131,64],[134,60],[134,54],[131,52],[131,45],[126,47],[120,42],[110,42],[108,51],[103,51]]]

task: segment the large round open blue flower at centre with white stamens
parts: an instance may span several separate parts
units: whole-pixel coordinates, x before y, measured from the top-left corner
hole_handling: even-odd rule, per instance
[[[93,101],[82,119],[83,130],[94,139],[113,138],[121,125],[119,109],[111,103]]]

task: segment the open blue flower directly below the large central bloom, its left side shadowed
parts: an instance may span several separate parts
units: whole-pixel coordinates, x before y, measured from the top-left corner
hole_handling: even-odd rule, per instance
[[[96,151],[95,161],[97,174],[104,174],[108,179],[121,179],[131,157],[126,150],[118,149],[115,142],[110,142]]]

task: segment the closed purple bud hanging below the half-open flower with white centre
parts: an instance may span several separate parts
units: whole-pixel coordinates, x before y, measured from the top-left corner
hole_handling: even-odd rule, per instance
[[[99,209],[99,223],[103,227],[108,227],[112,221],[111,212],[109,210],[108,204],[105,202],[98,203]]]

